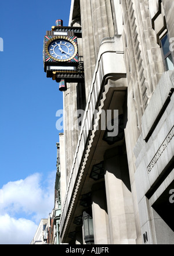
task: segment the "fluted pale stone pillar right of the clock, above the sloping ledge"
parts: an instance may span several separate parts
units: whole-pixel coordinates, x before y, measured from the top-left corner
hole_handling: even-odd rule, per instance
[[[114,36],[110,0],[81,0],[86,100],[102,39]]]

